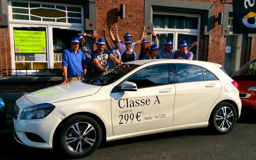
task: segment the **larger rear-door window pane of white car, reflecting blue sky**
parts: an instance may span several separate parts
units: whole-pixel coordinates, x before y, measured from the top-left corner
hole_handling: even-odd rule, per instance
[[[176,64],[178,82],[203,81],[202,68],[188,64]],[[176,76],[175,76],[176,78]],[[177,81],[177,80],[175,80]]]

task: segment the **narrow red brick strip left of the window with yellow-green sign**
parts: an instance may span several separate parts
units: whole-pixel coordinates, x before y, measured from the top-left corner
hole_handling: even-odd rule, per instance
[[[0,69],[11,69],[9,27],[0,28]]]

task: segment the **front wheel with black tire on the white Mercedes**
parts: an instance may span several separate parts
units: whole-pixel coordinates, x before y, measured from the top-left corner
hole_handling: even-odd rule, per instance
[[[79,115],[69,118],[59,129],[58,150],[70,158],[82,158],[94,152],[101,143],[102,130],[91,117]]]

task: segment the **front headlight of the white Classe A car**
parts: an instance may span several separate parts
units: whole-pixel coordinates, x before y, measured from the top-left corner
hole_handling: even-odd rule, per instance
[[[43,103],[31,107],[24,108],[20,119],[40,119],[48,116],[55,106],[49,103]]]

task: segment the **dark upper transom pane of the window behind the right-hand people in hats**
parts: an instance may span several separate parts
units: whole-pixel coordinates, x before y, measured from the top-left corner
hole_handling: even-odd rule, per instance
[[[153,14],[155,28],[198,29],[198,17]]]

